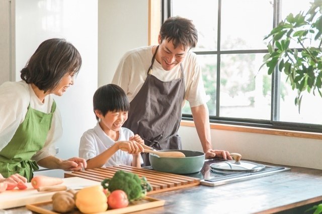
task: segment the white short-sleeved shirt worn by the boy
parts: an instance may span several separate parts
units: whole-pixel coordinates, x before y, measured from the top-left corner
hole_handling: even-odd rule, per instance
[[[121,127],[119,131],[119,139],[117,141],[129,140],[134,133],[127,128]],[[79,157],[86,160],[96,157],[102,152],[110,148],[115,141],[111,139],[97,123],[93,129],[84,132],[79,143]],[[103,167],[116,166],[116,165],[132,165],[133,156],[126,151],[117,150],[113,156],[103,165]],[[140,156],[140,163],[143,159]]]

